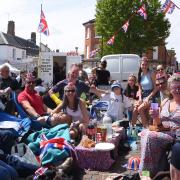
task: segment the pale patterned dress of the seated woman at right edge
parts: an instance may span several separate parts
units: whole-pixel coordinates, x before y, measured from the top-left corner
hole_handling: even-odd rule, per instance
[[[169,112],[170,100],[166,101],[161,111],[161,119],[164,127],[170,129],[180,127],[180,106],[174,112]],[[144,130],[141,134],[141,163],[140,171],[148,170],[154,176],[161,169],[162,157],[166,153],[168,145],[174,142],[175,130],[155,132]]]

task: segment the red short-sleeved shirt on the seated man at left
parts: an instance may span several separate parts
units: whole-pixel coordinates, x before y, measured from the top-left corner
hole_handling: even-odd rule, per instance
[[[30,91],[25,88],[25,90],[18,95],[18,102],[21,104],[22,101],[28,101],[39,115],[46,113],[43,108],[44,103],[42,97],[35,90]]]

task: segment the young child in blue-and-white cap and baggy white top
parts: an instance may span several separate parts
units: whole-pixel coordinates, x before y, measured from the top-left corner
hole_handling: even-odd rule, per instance
[[[128,97],[123,94],[122,86],[118,81],[111,85],[110,93],[100,93],[101,101],[109,103],[107,112],[103,117],[103,123],[113,123],[117,120],[123,119],[124,110],[131,109],[132,104]]]

